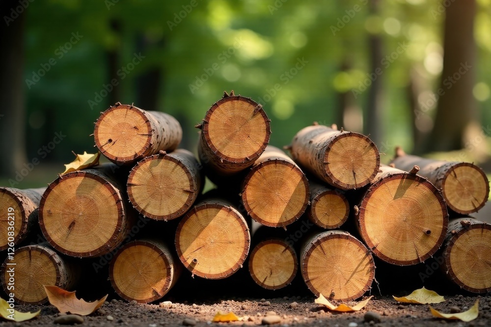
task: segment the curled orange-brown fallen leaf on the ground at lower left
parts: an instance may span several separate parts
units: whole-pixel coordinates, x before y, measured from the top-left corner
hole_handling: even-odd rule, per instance
[[[99,301],[85,302],[75,297],[75,292],[68,292],[56,286],[44,286],[48,300],[61,313],[72,313],[86,316],[97,310],[104,304],[108,295]]]

